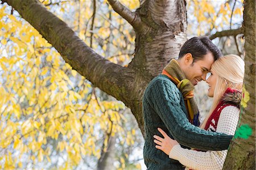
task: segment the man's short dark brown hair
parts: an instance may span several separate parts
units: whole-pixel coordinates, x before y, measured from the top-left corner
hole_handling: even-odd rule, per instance
[[[187,53],[193,56],[193,63],[204,58],[207,53],[212,53],[214,61],[222,56],[220,49],[212,43],[207,36],[193,37],[183,44],[180,49],[179,59]]]

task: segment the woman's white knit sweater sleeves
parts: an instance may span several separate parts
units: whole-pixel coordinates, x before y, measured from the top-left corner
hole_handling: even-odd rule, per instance
[[[226,106],[218,119],[216,132],[222,132],[228,135],[234,135],[240,115],[240,110],[236,106]],[[179,160],[186,169],[222,169],[226,154],[224,151],[195,151],[181,148],[179,144],[175,145],[169,157]]]

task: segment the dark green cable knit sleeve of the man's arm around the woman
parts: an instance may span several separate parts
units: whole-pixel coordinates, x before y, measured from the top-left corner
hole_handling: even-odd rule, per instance
[[[157,81],[147,96],[151,107],[156,111],[174,139],[184,146],[199,150],[226,150],[232,136],[210,132],[189,123],[181,109],[179,90],[170,81]]]

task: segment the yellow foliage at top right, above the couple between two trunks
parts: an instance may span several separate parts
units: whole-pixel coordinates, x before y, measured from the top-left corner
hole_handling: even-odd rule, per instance
[[[241,0],[240,3],[242,4]],[[229,25],[233,8],[233,4],[230,7],[230,2],[189,1],[187,5],[188,15],[194,16],[192,23],[189,23],[191,26],[188,24],[189,32],[196,31],[198,36],[207,33],[212,34],[212,30],[226,30],[226,28],[223,28],[224,25]],[[242,7],[238,3],[236,3],[233,15],[238,15],[237,18],[242,17]],[[195,19],[198,23],[195,22]]]

